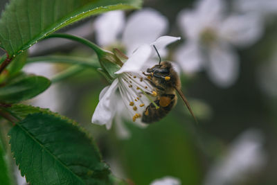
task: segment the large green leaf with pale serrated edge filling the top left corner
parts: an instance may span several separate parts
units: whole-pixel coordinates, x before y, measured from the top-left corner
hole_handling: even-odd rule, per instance
[[[141,0],[11,0],[0,19],[0,46],[15,56],[75,21],[140,6]]]

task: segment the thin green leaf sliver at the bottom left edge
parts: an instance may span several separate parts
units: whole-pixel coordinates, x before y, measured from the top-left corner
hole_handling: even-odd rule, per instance
[[[0,182],[3,185],[10,185],[12,184],[12,180],[10,177],[10,170],[8,168],[8,161],[6,158],[6,152],[4,150],[0,136]]]

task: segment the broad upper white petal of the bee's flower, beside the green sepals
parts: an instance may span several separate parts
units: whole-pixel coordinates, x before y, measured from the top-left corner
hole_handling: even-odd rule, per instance
[[[116,71],[116,74],[130,71],[139,71],[152,53],[151,46],[144,44],[137,49],[133,55],[123,64],[123,67]]]

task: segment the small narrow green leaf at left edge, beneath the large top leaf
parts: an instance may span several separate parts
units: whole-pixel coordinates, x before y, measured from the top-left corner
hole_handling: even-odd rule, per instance
[[[25,51],[17,55],[17,57],[8,66],[8,75],[14,76],[18,73],[26,64],[28,53]]]

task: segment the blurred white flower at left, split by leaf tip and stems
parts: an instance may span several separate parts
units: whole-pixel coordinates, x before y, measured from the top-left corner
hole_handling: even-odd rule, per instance
[[[27,64],[24,67],[26,73],[34,73],[38,76],[45,76],[51,78],[55,74],[54,64],[45,62]],[[33,98],[30,103],[37,107],[51,109],[53,112],[61,111],[62,95],[59,93],[58,85],[51,85],[42,94]]]

